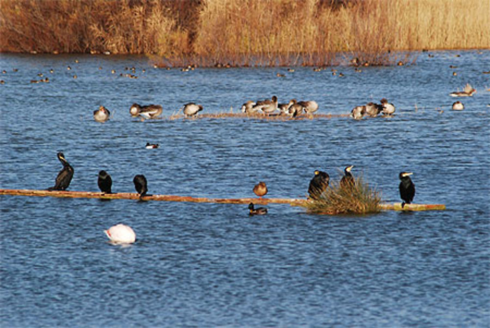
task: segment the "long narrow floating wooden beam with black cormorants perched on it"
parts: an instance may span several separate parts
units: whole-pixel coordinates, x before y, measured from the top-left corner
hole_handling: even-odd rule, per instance
[[[101,192],[91,191],[58,191],[58,190],[34,190],[34,189],[0,189],[0,195],[12,196],[38,196],[38,197],[60,197],[60,198],[98,198],[98,199],[125,199],[125,200],[140,200],[136,193],[114,193],[104,194]],[[146,195],[142,198],[143,201],[163,201],[163,202],[210,202],[210,203],[228,203],[228,204],[255,204],[267,205],[270,203],[290,204],[292,206],[302,206],[306,199],[294,198],[207,198],[207,197],[190,197],[176,195]],[[380,204],[381,210],[395,211],[428,211],[428,210],[443,210],[446,209],[444,204],[405,204],[401,207],[401,203]]]

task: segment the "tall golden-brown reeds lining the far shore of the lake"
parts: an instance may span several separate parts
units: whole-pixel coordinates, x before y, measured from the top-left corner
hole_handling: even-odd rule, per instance
[[[165,65],[390,64],[390,50],[490,48],[489,12],[488,0],[2,0],[0,51],[145,53]]]

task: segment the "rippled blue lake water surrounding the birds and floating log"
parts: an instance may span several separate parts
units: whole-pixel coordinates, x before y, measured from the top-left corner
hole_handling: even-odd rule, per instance
[[[447,206],[322,216],[270,204],[266,216],[249,217],[243,204],[0,196],[1,326],[489,327],[490,50],[430,53],[415,65],[335,67],[343,77],[330,68],[181,72],[136,56],[1,54],[2,188],[52,186],[63,151],[75,170],[70,190],[97,191],[103,169],[115,192],[134,192],[132,177],[144,174],[153,194],[252,197],[266,181],[267,197],[295,198],[316,169],[336,179],[352,164],[384,201],[400,202],[398,174],[410,171],[414,202]],[[477,93],[453,111],[449,93],[466,82]],[[320,114],[386,97],[396,115],[129,115],[133,102],[162,104],[168,117],[189,101],[202,113],[238,112],[272,95],[315,100]],[[113,114],[104,124],[92,117],[99,105]],[[103,229],[120,222],[134,228],[135,244],[107,243]]]

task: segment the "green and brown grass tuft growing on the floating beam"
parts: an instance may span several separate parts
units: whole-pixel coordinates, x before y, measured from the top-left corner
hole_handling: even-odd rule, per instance
[[[340,179],[339,179],[340,180]],[[354,185],[342,186],[330,180],[330,185],[318,200],[304,203],[307,211],[319,214],[368,214],[381,210],[381,193],[371,188],[363,177],[354,178]]]

